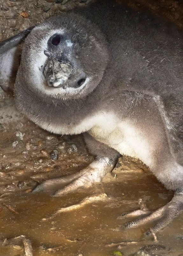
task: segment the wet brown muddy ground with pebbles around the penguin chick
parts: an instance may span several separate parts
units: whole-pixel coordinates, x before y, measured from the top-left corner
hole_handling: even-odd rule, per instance
[[[125,2],[133,8],[149,9],[183,26],[181,1]],[[87,3],[77,0],[1,1],[0,39],[76,4]],[[152,237],[144,238],[150,225],[124,230],[121,225],[127,219],[117,219],[121,213],[137,209],[139,198],[154,210],[172,197],[172,192],[165,190],[140,161],[120,158],[115,170],[101,184],[77,193],[58,198],[50,196],[54,189],[31,194],[39,182],[75,173],[87,166],[93,157],[88,154],[82,136],[59,136],[40,129],[18,113],[13,98],[2,91],[0,134],[0,255],[25,255],[24,239],[11,239],[21,235],[30,239],[35,256],[183,255],[183,215],[157,234],[158,243]],[[57,150],[58,160],[52,159],[53,150]],[[49,218],[60,208],[101,193],[107,194],[107,200]],[[128,242],[116,244],[125,241]]]

